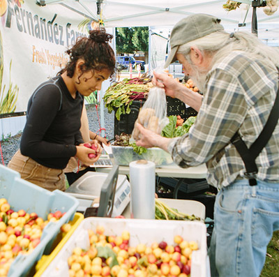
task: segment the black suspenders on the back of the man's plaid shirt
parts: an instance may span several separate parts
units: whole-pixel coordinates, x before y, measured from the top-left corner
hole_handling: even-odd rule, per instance
[[[246,168],[244,175],[249,179],[250,186],[257,185],[257,180],[255,179],[257,174],[257,165],[256,158],[261,153],[262,149],[266,146],[267,142],[275,129],[279,118],[279,88],[276,95],[276,100],[272,107],[271,113],[269,114],[269,119],[266,121],[266,125],[262,129],[262,132],[257,137],[257,140],[251,145],[248,149],[245,142],[241,139],[238,132],[234,134],[231,139],[232,144],[236,147],[236,150],[239,152],[243,163]]]

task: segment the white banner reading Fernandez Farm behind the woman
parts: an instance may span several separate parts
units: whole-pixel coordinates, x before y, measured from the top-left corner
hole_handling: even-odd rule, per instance
[[[59,4],[0,0],[0,114],[24,112],[33,91],[68,61],[90,20]]]

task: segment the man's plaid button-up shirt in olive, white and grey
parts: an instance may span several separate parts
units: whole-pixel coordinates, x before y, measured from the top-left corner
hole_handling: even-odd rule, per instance
[[[265,60],[236,51],[216,63],[206,76],[206,91],[190,132],[176,137],[168,150],[176,164],[206,163],[207,181],[218,188],[243,178],[243,161],[230,140],[236,131],[247,147],[266,123],[278,90],[278,71]],[[279,124],[256,159],[257,179],[279,181]]]

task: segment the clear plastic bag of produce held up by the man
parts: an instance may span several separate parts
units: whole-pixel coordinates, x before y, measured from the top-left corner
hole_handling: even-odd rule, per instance
[[[144,128],[160,134],[168,122],[165,90],[159,87],[152,87],[135,123],[140,123]],[[131,139],[132,141],[140,140],[140,130],[136,126],[133,129]]]

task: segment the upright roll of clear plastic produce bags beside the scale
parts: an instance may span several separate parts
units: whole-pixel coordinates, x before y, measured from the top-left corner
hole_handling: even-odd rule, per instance
[[[131,218],[155,218],[155,163],[134,160],[130,167]]]

